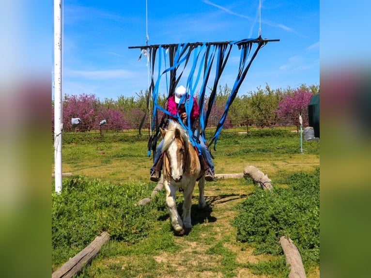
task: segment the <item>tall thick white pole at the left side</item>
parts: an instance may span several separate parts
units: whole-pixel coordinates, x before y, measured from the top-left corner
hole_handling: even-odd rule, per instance
[[[54,171],[62,191],[62,0],[54,0]]]

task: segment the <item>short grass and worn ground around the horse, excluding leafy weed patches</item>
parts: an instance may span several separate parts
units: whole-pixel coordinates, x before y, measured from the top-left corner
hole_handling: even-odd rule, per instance
[[[146,147],[146,141],[64,144],[63,171],[72,172],[74,176],[87,176],[90,181],[100,179],[97,186],[127,187],[139,184],[144,195],[140,197],[148,197],[155,183],[148,179],[152,158],[146,156]],[[274,187],[289,188],[289,176],[298,172],[310,174],[319,167],[319,143],[304,141],[303,149],[304,154],[301,154],[300,138],[296,134],[222,134],[216,146],[217,151],[213,151],[216,173],[242,173],[244,167],[253,165],[268,174]],[[189,278],[285,277],[287,269],[282,255],[257,254],[253,245],[237,240],[237,228],[232,224],[238,215],[236,206],[252,196],[255,189],[256,186],[245,179],[206,183],[207,207],[204,210],[197,207],[198,190],[195,189],[192,205],[194,227],[183,237],[174,236],[164,193],[160,192],[158,200],[148,211],[155,218],[146,228],[146,236],[135,242],[112,239],[80,277],[166,278],[175,274]],[[108,197],[110,195],[105,191],[100,192]],[[117,194],[114,189],[111,192]],[[136,195],[137,199],[139,195]],[[91,196],[93,198],[94,195]],[[103,200],[106,199],[99,197],[91,201],[101,203]],[[107,202],[108,208],[110,203]],[[181,193],[177,194],[177,204],[181,210]],[[112,213],[117,217],[117,211]],[[68,258],[73,256],[73,252],[55,255],[59,258],[62,256]],[[56,260],[53,269],[63,260]],[[318,264],[307,268],[307,277],[319,277]]]

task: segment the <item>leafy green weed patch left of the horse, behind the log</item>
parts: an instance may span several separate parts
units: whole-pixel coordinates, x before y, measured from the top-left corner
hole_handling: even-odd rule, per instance
[[[77,177],[63,181],[61,194],[52,194],[52,261],[64,263],[103,231],[112,239],[137,242],[156,220],[154,207],[137,206],[149,196],[146,184],[111,185]]]

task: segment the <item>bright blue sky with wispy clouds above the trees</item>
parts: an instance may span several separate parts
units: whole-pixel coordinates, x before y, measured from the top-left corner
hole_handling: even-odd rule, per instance
[[[145,45],[145,0],[65,0],[63,11],[63,94],[115,100],[148,88],[146,59],[128,48]],[[319,84],[319,1],[262,0],[261,16],[263,38],[280,41],[259,51],[239,94]],[[147,18],[149,45],[256,38],[259,0],[148,0]],[[232,87],[238,59],[232,52],[221,85]]]

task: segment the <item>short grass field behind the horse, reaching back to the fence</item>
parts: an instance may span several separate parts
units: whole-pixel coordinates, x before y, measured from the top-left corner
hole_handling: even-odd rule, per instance
[[[242,173],[254,165],[269,175],[279,176],[298,170],[314,170],[319,163],[319,147],[291,136],[228,136],[212,148],[216,173]],[[103,178],[113,183],[147,182],[152,157],[147,156],[147,141],[70,143],[63,145],[63,172]],[[52,160],[52,169],[53,169]]]

